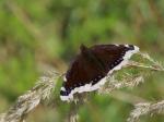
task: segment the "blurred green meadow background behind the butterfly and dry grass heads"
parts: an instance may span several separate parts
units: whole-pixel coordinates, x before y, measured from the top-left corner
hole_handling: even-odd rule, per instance
[[[0,0],[0,112],[43,72],[65,72],[81,44],[133,44],[164,61],[164,0]],[[150,101],[163,99],[163,77],[156,73],[121,91]],[[125,122],[132,106],[114,96],[95,95],[80,108],[80,122]],[[40,106],[27,122],[66,121],[68,108],[66,102]],[[141,122],[163,120],[155,115]]]

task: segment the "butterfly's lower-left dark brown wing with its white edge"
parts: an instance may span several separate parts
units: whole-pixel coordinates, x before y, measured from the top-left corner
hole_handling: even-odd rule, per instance
[[[95,63],[89,61],[83,54],[79,54],[73,61],[70,70],[66,74],[66,81],[62,84],[60,98],[62,100],[72,99],[75,93],[94,90],[92,84],[104,77],[105,74]]]

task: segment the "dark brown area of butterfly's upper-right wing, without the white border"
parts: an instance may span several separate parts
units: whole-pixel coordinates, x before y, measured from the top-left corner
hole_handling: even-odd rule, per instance
[[[119,64],[122,61],[122,57],[125,56],[126,51],[129,50],[129,48],[125,47],[124,45],[97,45],[91,49],[97,59],[101,60],[105,65],[106,73]]]

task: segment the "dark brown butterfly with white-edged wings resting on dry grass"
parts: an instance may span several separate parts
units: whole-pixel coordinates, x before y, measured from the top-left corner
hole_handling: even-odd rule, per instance
[[[60,90],[61,100],[72,100],[75,93],[98,89],[106,82],[106,75],[127,64],[139,48],[133,45],[95,45],[80,47],[70,69],[67,71]]]

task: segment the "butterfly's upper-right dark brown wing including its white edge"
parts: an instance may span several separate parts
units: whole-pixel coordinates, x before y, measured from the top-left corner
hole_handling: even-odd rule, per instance
[[[105,65],[106,73],[110,70],[119,70],[133,53],[139,51],[139,48],[132,45],[96,45],[91,49]],[[117,65],[119,68],[116,69]]]

